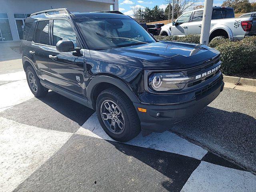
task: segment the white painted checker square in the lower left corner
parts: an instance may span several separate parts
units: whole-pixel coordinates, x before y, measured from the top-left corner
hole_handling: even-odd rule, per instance
[[[0,191],[14,190],[70,136],[72,133],[42,129],[0,117]]]

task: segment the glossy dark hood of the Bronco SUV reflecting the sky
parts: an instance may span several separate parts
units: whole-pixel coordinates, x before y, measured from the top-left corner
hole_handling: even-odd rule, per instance
[[[155,42],[123,48],[92,50],[96,60],[145,69],[180,69],[197,66],[219,52],[198,44]]]

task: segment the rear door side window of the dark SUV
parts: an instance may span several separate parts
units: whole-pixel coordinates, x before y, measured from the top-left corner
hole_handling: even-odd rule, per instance
[[[35,43],[50,45],[49,25],[49,20],[38,21],[34,38]]]

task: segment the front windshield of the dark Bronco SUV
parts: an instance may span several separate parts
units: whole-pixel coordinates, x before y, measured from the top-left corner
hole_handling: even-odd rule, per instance
[[[89,49],[100,50],[155,42],[133,19],[76,20]]]

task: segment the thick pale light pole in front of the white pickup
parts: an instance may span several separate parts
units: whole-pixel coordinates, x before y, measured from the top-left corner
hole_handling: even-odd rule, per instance
[[[210,26],[211,26],[211,19],[212,19],[212,5],[213,5],[213,0],[204,1],[204,14],[203,14],[203,21],[202,21],[200,44],[204,44],[204,45],[209,44]]]

